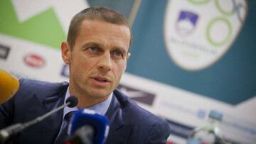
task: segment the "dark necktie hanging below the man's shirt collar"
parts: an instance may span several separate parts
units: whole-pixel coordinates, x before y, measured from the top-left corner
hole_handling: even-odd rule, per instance
[[[68,140],[68,125],[74,113],[75,111],[70,111],[69,113],[65,114],[62,127],[57,138],[55,139],[55,144],[65,143],[65,141]]]

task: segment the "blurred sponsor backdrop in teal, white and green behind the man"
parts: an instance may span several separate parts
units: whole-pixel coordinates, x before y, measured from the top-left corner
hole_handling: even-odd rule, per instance
[[[211,110],[223,114],[226,140],[255,143],[256,1],[2,0],[0,69],[68,81],[60,43],[71,18],[89,6],[129,19],[132,56],[119,89],[169,122],[168,143],[186,143]]]

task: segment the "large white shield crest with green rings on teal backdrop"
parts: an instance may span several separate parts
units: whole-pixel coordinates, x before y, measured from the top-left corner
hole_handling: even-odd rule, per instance
[[[247,1],[169,1],[166,49],[185,70],[210,67],[228,51],[247,15]]]

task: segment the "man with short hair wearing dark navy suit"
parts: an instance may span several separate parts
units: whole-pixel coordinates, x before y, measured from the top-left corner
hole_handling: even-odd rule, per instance
[[[129,23],[121,14],[102,7],[80,11],[70,23],[67,41],[61,43],[70,83],[21,79],[14,98],[0,105],[0,128],[30,121],[73,95],[78,98],[78,108],[100,111],[110,119],[106,143],[166,143],[170,133],[166,121],[116,89],[127,66],[130,44]],[[63,143],[59,136],[70,111],[74,109],[65,108],[27,128],[16,142]]]

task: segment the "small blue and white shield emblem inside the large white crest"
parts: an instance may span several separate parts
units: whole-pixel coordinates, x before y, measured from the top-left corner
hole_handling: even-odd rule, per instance
[[[176,21],[176,31],[181,36],[190,35],[196,28],[198,15],[191,11],[181,11]]]

